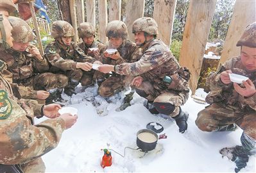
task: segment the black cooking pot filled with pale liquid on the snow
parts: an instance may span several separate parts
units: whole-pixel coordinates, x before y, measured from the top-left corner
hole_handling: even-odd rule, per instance
[[[160,138],[167,138],[167,136],[160,135]],[[160,139],[159,138],[159,139]],[[136,144],[144,152],[151,151],[155,149],[158,141],[158,135],[155,131],[150,129],[141,129],[137,132],[137,141]]]

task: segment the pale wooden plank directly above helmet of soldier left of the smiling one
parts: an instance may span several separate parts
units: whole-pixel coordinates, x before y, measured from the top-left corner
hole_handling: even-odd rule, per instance
[[[121,0],[109,0],[108,21],[121,20]]]

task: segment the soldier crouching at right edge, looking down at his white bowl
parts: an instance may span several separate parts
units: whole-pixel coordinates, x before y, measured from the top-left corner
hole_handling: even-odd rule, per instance
[[[198,113],[196,126],[202,131],[234,131],[243,129],[242,145],[221,149],[223,156],[235,161],[238,172],[246,167],[248,156],[255,154],[256,144],[256,22],[250,24],[237,42],[241,55],[228,59],[218,72],[207,78],[210,93],[207,106]],[[248,80],[232,83],[229,74],[241,74]]]

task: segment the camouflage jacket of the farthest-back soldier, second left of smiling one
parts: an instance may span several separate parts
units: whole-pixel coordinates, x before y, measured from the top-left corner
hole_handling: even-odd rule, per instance
[[[85,42],[80,42],[78,44],[78,47],[80,47],[85,54],[87,54],[88,56],[92,56],[92,58],[95,58],[96,60],[99,60],[100,62],[102,62],[102,58],[99,57],[95,57],[94,54],[89,54],[88,52],[90,51],[90,48],[94,48],[94,47],[98,47],[99,48],[99,54],[103,54],[103,52],[107,49],[107,46],[105,44],[102,44],[99,41],[94,41],[92,43],[92,45],[90,45],[90,47],[87,47],[87,45],[85,45]]]

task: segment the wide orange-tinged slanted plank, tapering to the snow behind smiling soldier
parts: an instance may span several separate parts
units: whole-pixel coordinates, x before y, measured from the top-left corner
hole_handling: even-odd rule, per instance
[[[189,68],[191,79],[189,84],[192,94],[196,91],[200,76],[205,45],[210,32],[216,0],[196,1],[189,3],[185,31],[183,33],[180,65]]]

